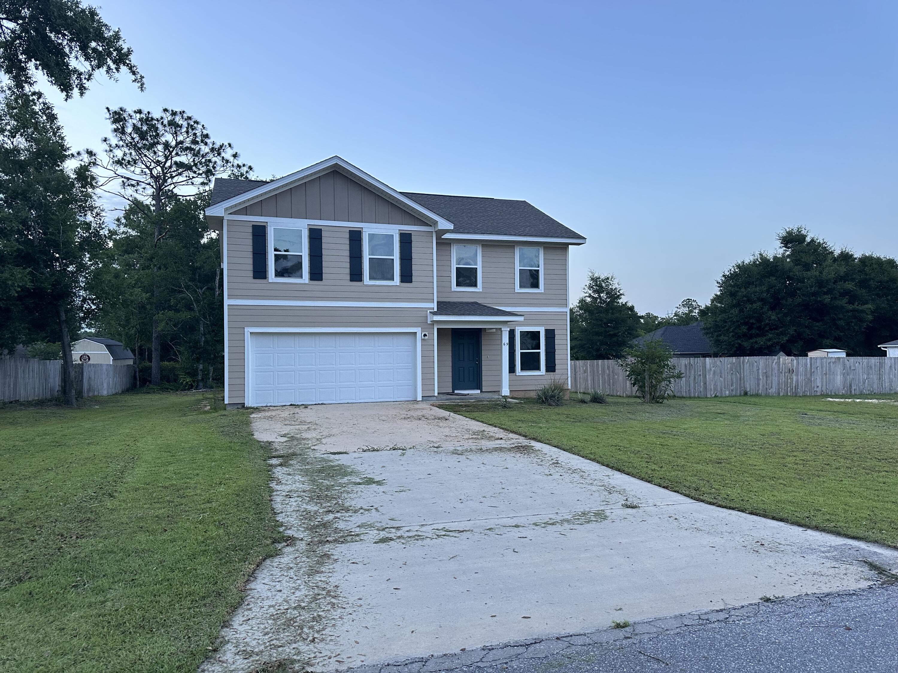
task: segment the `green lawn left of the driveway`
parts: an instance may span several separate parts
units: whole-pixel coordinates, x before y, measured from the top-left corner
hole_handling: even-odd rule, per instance
[[[196,669],[279,538],[212,394],[0,405],[0,670]]]

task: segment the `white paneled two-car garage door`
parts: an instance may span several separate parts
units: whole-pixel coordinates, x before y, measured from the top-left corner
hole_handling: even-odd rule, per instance
[[[251,406],[418,398],[411,332],[250,335]]]

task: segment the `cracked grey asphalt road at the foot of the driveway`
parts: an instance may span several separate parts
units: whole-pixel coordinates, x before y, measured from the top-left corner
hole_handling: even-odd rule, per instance
[[[805,595],[506,642],[352,673],[894,673],[898,586]]]

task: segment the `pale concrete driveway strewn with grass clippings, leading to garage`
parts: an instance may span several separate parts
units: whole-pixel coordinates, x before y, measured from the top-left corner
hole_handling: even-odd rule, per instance
[[[276,407],[260,565],[204,671],[333,670],[863,587],[898,552],[696,503],[424,403]]]

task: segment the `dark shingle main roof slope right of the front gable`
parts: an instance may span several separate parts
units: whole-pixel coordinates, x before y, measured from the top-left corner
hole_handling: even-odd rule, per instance
[[[507,198],[450,197],[445,194],[402,192],[412,201],[442,215],[455,225],[453,233],[492,233],[497,236],[543,236],[585,240],[558,220],[526,201]]]

